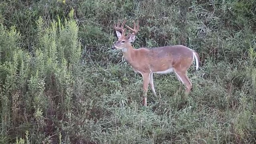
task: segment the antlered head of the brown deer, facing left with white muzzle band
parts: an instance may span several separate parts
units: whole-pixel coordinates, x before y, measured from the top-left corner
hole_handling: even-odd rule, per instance
[[[124,24],[126,23],[126,19],[124,19],[124,22],[120,26],[120,20],[118,20],[118,23],[114,23],[114,30],[116,30],[116,35],[118,37],[118,41],[112,46],[112,50],[117,49],[117,50],[122,50],[125,48],[131,47],[130,42],[134,42],[135,36],[138,33],[139,30],[139,21],[136,26],[135,22],[133,22],[134,26],[133,29],[130,28],[129,26],[125,25],[126,28],[129,29],[129,33],[127,36],[125,36],[126,28],[124,29]],[[132,33],[130,33],[130,31]]]

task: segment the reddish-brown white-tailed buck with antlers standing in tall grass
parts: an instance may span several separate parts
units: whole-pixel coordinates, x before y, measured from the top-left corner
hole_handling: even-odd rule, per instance
[[[139,48],[133,49],[131,42],[134,42],[135,36],[139,30],[139,22],[136,26],[134,22],[134,28],[129,29],[129,34],[125,36],[126,28],[124,29],[124,24],[126,19],[120,26],[120,20],[118,23],[114,23],[114,29],[116,30],[116,35],[118,41],[112,46],[112,49],[122,50],[124,59],[128,62],[135,72],[139,72],[143,77],[143,99],[142,105],[147,106],[146,93],[148,91],[148,84],[156,96],[156,91],[153,84],[153,74],[167,74],[170,72],[175,72],[178,80],[186,86],[186,94],[190,92],[192,87],[191,82],[187,77],[187,70],[192,65],[194,58],[196,59],[196,70],[199,67],[199,56],[198,54],[182,45],[176,46],[163,46],[158,48]],[[130,33],[130,31],[132,33]]]

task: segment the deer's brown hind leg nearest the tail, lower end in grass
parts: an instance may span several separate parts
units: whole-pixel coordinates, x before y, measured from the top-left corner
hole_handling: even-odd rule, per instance
[[[174,72],[176,73],[178,79],[180,79],[180,81],[186,86],[185,92],[188,94],[190,92],[190,89],[192,88],[192,84],[188,79],[186,71],[174,70]]]

